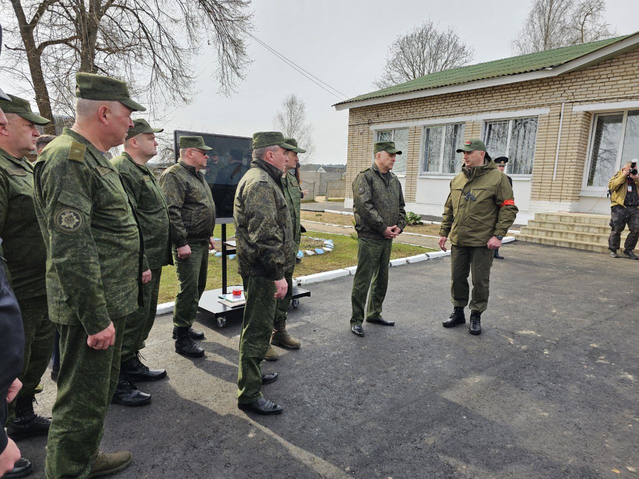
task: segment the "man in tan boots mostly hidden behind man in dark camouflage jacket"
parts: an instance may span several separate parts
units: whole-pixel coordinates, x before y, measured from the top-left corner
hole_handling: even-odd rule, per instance
[[[285,138],[284,142],[291,146],[295,146],[295,149],[286,151],[286,165],[284,165],[284,174],[282,175],[282,188],[284,191],[284,199],[288,205],[288,211],[291,215],[291,225],[293,227],[293,240],[295,241],[295,254],[298,252],[300,246],[300,239],[302,238],[302,225],[300,224],[300,200],[302,199],[300,185],[295,178],[295,168],[300,162],[297,154],[306,153],[305,149],[297,146],[297,141],[293,138]],[[277,311],[275,313],[275,323],[273,324],[273,334],[271,335],[271,344],[275,346],[285,347],[286,349],[299,349],[302,345],[300,340],[295,339],[289,335],[286,331],[286,319],[288,318],[288,307],[291,304],[293,298],[293,270],[295,270],[295,262],[293,262],[293,268],[288,271],[284,271],[284,277],[286,278],[286,284],[288,284],[288,290],[286,296],[282,300],[277,301]],[[273,361],[279,357],[277,351],[272,346],[268,346],[266,351],[265,360]]]

